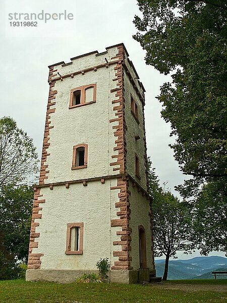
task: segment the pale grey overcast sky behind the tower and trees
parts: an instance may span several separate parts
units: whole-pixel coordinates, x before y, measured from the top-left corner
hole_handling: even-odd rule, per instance
[[[183,183],[185,176],[174,160],[168,144],[170,125],[160,116],[161,105],[155,98],[168,76],[159,74],[144,61],[145,52],[132,35],[134,16],[140,14],[136,0],[2,0],[1,11],[1,103],[0,117],[11,116],[33,138],[41,158],[41,147],[48,97],[48,65],[124,42],[146,93],[145,126],[147,154],[151,157],[160,184],[167,187]],[[73,20],[36,20],[36,27],[11,26],[9,20],[19,13],[70,15]],[[14,15],[17,13],[17,15]],[[13,15],[9,15],[13,14]],[[34,16],[34,15],[33,15]],[[39,15],[42,18],[42,15]],[[48,18],[48,15],[46,15]],[[33,17],[34,18],[34,17]],[[62,15],[61,18],[65,18]],[[212,254],[213,255],[213,254]],[[216,252],[215,255],[218,255]],[[223,254],[221,254],[222,256]],[[184,255],[185,256],[185,255]],[[181,258],[191,258],[190,256]]]

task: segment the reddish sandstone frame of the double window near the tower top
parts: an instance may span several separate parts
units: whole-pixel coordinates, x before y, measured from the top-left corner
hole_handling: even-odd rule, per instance
[[[88,88],[92,88],[93,87],[93,99],[89,102],[86,102],[85,98],[86,98],[86,90]],[[80,91],[80,104],[75,104],[74,105],[74,92],[76,91]],[[88,105],[88,104],[92,104],[96,102],[96,83],[93,84],[88,84],[88,85],[82,85],[82,86],[78,86],[75,88],[72,88],[70,90],[70,104],[69,104],[69,109],[73,109],[73,108],[77,108],[80,106],[84,106],[84,105]]]

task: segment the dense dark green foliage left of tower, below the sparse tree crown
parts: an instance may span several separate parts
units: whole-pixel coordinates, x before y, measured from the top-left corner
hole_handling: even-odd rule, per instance
[[[32,187],[26,185],[5,186],[0,193],[0,233],[17,261],[28,259],[33,195]]]

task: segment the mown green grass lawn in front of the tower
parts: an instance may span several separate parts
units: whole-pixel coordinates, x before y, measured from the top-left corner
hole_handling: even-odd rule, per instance
[[[193,283],[192,280],[191,283]],[[221,284],[220,281],[217,283]],[[222,291],[159,289],[155,284],[58,284],[24,280],[0,281],[1,303],[224,303],[226,299],[227,294]]]

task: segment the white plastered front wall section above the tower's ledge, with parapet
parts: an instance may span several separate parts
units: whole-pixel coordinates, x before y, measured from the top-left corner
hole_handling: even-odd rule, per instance
[[[110,52],[110,54],[109,54]],[[60,74],[77,71],[87,66],[96,66],[100,62],[105,63],[104,58],[110,61],[111,56],[115,56],[117,47],[110,49],[107,54],[95,56],[94,54],[73,60],[73,64],[55,68]],[[51,113],[50,121],[53,126],[50,129],[50,139],[48,154],[44,165],[48,165],[48,179],[45,183],[78,180],[116,174],[109,166],[115,162],[112,155],[116,146],[116,137],[113,136],[112,126],[117,122],[109,123],[110,119],[115,119],[115,113],[111,101],[116,99],[115,92],[110,93],[110,89],[116,88],[115,70],[116,65],[109,68],[103,67],[97,71],[89,71],[84,75],[78,74],[74,78],[67,77],[63,81],[57,80],[53,90],[57,90],[55,98],[55,112]],[[61,74],[62,75],[62,74]],[[96,103],[69,109],[70,90],[82,85],[96,83]],[[88,144],[88,164],[86,169],[71,170],[73,146]],[[116,167],[116,166],[115,166]]]

